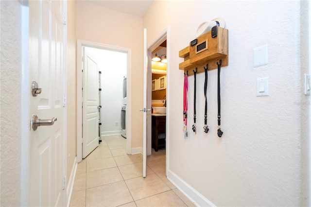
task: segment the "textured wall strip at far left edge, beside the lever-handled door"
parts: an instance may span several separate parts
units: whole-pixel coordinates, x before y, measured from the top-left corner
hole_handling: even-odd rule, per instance
[[[0,2],[0,206],[20,206],[21,4]]]

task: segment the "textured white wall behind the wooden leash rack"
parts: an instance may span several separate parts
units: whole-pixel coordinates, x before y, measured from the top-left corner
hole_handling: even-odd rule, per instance
[[[216,206],[300,206],[308,180],[309,97],[302,95],[300,1],[154,1],[143,17],[148,43],[168,34],[169,170]],[[306,10],[304,10],[306,13]],[[158,15],[161,13],[161,15]],[[156,17],[156,18],[155,18]],[[223,17],[229,30],[229,66],[221,70],[222,138],[217,137],[217,70],[208,72],[208,134],[204,73],[197,75],[198,132],[184,139],[183,61],[178,52],[203,22]],[[305,23],[306,24],[306,23]],[[253,49],[268,45],[269,64],[253,68]],[[306,65],[305,65],[306,66]],[[256,79],[269,77],[269,96],[256,96]],[[189,125],[193,76],[189,77]],[[301,159],[306,160],[304,162]],[[307,196],[306,196],[307,195]],[[307,204],[308,205],[308,204]]]

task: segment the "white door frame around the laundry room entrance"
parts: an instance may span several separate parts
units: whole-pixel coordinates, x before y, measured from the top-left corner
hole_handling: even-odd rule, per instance
[[[127,69],[126,69],[126,153],[132,154],[132,111],[131,111],[131,100],[132,100],[132,49],[123,48],[113,45],[107,45],[98,42],[91,42],[86,40],[77,40],[77,162],[82,161],[82,47],[91,47],[103,50],[110,50],[116,52],[125,52],[127,53]]]

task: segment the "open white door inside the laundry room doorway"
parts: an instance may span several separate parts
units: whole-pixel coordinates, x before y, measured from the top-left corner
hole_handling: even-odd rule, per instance
[[[98,101],[99,79],[98,64],[89,48],[83,47],[82,72],[82,157],[85,158],[99,144],[98,138]]]

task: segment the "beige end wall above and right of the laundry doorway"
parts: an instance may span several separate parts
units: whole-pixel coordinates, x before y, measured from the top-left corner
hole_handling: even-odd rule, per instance
[[[132,148],[142,147],[142,18],[88,3],[76,2],[76,38],[132,49]]]

